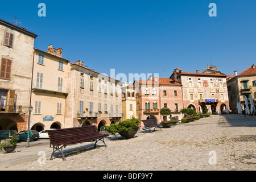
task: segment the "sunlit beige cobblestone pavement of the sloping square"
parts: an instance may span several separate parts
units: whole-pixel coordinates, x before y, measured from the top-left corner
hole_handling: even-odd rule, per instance
[[[172,171],[256,170],[256,117],[211,115],[169,129],[142,131],[135,138],[106,140],[69,146],[66,161],[49,160],[52,148],[45,142],[16,152],[0,154],[1,170],[43,171]],[[44,163],[42,155],[46,154]]]

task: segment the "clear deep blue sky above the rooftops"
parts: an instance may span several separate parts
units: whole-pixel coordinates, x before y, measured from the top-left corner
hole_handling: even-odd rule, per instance
[[[38,4],[46,4],[46,17]],[[210,17],[209,3],[217,17]],[[35,48],[63,48],[63,57],[115,73],[196,72],[216,65],[233,75],[256,64],[256,1],[5,1],[0,18],[38,35]]]

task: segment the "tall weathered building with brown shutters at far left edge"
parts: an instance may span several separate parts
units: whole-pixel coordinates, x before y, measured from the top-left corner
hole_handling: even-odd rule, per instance
[[[36,37],[0,19],[0,130],[27,128]]]

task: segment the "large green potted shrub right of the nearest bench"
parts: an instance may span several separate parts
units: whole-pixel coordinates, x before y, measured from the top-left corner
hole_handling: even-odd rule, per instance
[[[133,117],[132,119],[126,119],[125,121],[121,121],[117,124],[111,124],[107,126],[107,130],[109,133],[118,133],[123,138],[133,138],[134,135],[138,132],[139,127],[139,119]]]

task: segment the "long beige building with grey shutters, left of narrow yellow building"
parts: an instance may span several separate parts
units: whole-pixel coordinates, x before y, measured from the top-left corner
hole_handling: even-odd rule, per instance
[[[109,126],[122,118],[122,82],[84,67],[69,64],[66,127]]]

